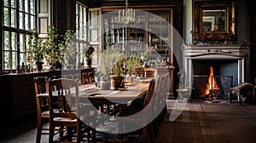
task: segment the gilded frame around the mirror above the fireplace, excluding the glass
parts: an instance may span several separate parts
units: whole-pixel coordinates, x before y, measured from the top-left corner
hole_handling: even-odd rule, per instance
[[[208,11],[224,11],[224,30],[212,30],[213,27],[209,30],[205,30],[203,26],[203,10]],[[215,20],[214,16],[210,15],[208,18],[208,24],[211,24],[211,20]],[[216,19],[220,20],[219,17]],[[217,20],[215,20],[217,21]],[[204,28],[204,30],[203,30]],[[236,41],[236,0],[215,0],[215,1],[193,1],[193,30],[195,33],[201,35],[210,36],[215,35],[218,41],[230,40]]]

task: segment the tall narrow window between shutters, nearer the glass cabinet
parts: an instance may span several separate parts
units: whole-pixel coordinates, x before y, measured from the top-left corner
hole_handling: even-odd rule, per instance
[[[87,43],[87,7],[81,3],[76,3],[76,39],[79,53],[83,52],[83,48]],[[83,62],[83,59],[80,59]]]

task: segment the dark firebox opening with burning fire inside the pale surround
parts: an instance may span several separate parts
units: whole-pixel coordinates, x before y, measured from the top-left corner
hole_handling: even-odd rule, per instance
[[[232,62],[228,64],[229,66],[225,66],[226,62],[230,61],[193,61],[194,75],[191,94],[193,98],[206,100],[226,100],[228,98],[229,89],[234,84],[233,77],[237,77],[237,72],[231,71]]]

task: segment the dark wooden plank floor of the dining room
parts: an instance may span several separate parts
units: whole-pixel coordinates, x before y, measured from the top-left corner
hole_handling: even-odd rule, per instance
[[[168,115],[160,126],[154,142],[256,142],[256,106],[238,103],[188,103],[183,112],[173,122],[169,121],[174,100],[168,100]],[[20,125],[17,129],[1,131],[0,142],[34,143],[36,123]],[[41,142],[48,142],[43,135]],[[142,142],[140,138],[127,139],[125,142]]]

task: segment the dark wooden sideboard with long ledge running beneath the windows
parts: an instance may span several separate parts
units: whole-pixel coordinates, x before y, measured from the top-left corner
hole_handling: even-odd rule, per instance
[[[54,77],[83,72],[95,72],[94,68],[49,72],[29,72],[24,74],[0,75],[1,125],[22,123],[26,119],[36,119],[36,95],[33,77]]]

